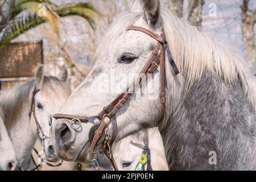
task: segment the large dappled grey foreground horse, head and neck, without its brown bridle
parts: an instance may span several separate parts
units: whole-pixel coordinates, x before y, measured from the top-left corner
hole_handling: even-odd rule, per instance
[[[159,0],[141,0],[135,6],[141,7],[133,7],[106,31],[96,64],[60,112],[88,117],[100,113],[133,84],[158,44],[128,28],[135,25],[158,35],[163,29],[180,71],[176,76],[166,54],[164,117],[159,119],[158,68],[115,113],[116,139],[158,126],[170,169],[255,169],[256,93],[241,53],[173,16]],[[57,154],[65,160],[90,162],[88,134],[93,124],[82,123],[74,130],[69,123],[53,122],[50,135]],[[212,151],[221,159],[217,166],[209,162]]]

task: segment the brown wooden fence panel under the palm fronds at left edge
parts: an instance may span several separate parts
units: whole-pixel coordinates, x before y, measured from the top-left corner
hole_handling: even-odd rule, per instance
[[[34,76],[43,64],[43,41],[15,42],[0,49],[0,80],[2,88],[10,88]]]

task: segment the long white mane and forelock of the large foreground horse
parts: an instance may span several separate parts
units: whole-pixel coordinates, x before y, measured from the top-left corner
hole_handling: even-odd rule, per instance
[[[142,16],[143,11],[136,11],[124,14],[115,20],[102,38],[94,60],[104,55],[109,48],[106,45],[112,45]],[[161,16],[172,56],[181,75],[186,75],[185,94],[207,69],[220,80],[224,80],[227,86],[236,82],[239,77],[250,101],[254,106],[256,105],[256,84],[250,86],[251,82],[255,81],[245,66],[245,59],[236,47],[217,43],[208,34],[197,30],[187,20],[173,16],[164,7],[161,8]]]

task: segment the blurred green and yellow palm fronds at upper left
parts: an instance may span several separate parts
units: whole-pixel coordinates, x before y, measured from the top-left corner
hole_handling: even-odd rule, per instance
[[[71,15],[85,18],[94,29],[94,20],[100,13],[90,3],[56,6],[48,0],[16,0],[11,19],[0,33],[0,48],[18,35],[44,22],[48,22],[59,36],[60,17]]]

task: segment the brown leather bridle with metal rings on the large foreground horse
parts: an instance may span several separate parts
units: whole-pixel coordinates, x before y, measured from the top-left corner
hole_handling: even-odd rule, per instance
[[[55,119],[69,119],[71,120],[71,127],[74,129],[73,122],[77,121],[79,126],[81,126],[81,122],[92,122],[95,118],[101,121],[100,124],[94,125],[91,127],[89,131],[89,139],[91,142],[90,146],[90,160],[93,162],[96,159],[97,153],[94,151],[94,147],[96,144],[100,144],[104,141],[104,153],[108,156],[110,162],[112,163],[115,170],[118,170],[117,164],[115,164],[115,160],[113,159],[113,154],[111,150],[111,146],[117,136],[117,121],[115,118],[115,113],[125,104],[125,102],[129,99],[131,94],[135,92],[135,89],[139,86],[142,88],[142,85],[145,84],[149,75],[155,72],[155,70],[160,66],[160,118],[159,121],[164,117],[164,110],[165,110],[165,73],[164,73],[164,55],[167,52],[168,60],[172,68],[174,69],[175,74],[179,73],[179,69],[172,59],[172,55],[170,52],[170,48],[168,43],[166,42],[166,36],[164,34],[164,30],[162,29],[162,34],[159,36],[150,30],[147,30],[143,27],[138,26],[130,26],[128,30],[134,31],[141,31],[144,34],[151,36],[158,41],[155,49],[152,51],[150,57],[148,58],[146,64],[144,65],[142,71],[139,73],[139,76],[135,79],[133,84],[126,90],[120,94],[114,101],[112,101],[108,106],[105,106],[102,111],[93,117],[84,117],[84,116],[77,116],[77,115],[68,115],[68,114],[53,114],[49,115],[49,125],[51,126],[52,118]],[[73,122],[72,122],[73,121]],[[112,123],[112,136],[106,131],[108,130],[109,123]]]

